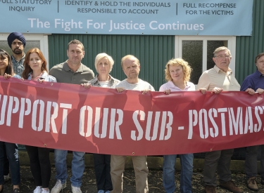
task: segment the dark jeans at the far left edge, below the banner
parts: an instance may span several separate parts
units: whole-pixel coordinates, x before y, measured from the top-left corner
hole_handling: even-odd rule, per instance
[[[0,185],[4,184],[4,144],[10,164],[11,181],[13,185],[20,184],[20,164],[18,159],[18,145],[10,142],[0,142]]]

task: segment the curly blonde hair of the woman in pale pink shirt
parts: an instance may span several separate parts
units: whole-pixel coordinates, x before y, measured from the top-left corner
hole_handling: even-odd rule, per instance
[[[191,76],[191,67],[189,66],[189,63],[183,60],[182,58],[175,58],[172,60],[169,60],[167,62],[167,65],[165,67],[165,79],[166,81],[172,81],[172,77],[170,76],[170,66],[182,66],[183,71],[183,80],[184,82],[189,81]]]

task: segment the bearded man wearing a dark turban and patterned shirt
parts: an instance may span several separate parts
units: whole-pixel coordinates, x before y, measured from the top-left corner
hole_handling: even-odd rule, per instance
[[[25,37],[20,32],[13,32],[7,37],[7,42],[13,52],[13,55],[11,55],[11,59],[14,72],[15,74],[21,76],[24,70],[24,48],[26,44]]]

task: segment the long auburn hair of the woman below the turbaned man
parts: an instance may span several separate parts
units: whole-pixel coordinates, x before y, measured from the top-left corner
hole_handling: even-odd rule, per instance
[[[39,48],[32,48],[25,55],[25,61],[24,61],[25,69],[24,69],[24,71],[22,73],[22,77],[24,79],[27,79],[28,74],[30,74],[30,72],[33,72],[33,70],[31,69],[31,67],[29,65],[29,63],[30,63],[30,53],[37,53],[39,55],[40,60],[43,60],[42,72],[44,72],[44,71],[48,72],[48,69],[46,69],[46,59],[44,58],[44,55],[43,55],[42,51],[40,51]]]

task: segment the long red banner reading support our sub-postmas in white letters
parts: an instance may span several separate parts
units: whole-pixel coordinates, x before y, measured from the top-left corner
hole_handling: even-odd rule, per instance
[[[142,95],[3,78],[0,85],[1,141],[120,155],[185,154],[264,144],[264,100],[259,94]]]

